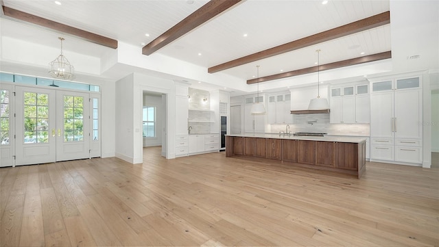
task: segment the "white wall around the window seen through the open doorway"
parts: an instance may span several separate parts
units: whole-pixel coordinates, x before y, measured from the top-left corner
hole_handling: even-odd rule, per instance
[[[163,132],[163,115],[166,114],[165,104],[162,103],[161,94],[153,95],[146,93],[143,97],[143,106],[156,107],[156,136],[154,138],[143,138],[143,146],[161,146]]]

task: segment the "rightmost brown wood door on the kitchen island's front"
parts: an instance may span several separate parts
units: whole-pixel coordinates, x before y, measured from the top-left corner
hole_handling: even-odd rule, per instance
[[[335,167],[346,170],[358,170],[358,145],[357,143],[335,143]]]

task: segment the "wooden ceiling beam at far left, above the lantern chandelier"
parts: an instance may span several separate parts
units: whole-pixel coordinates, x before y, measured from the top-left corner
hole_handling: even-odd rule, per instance
[[[57,23],[55,21],[50,21],[45,18],[41,18],[39,16],[34,16],[33,14],[28,14],[25,12],[21,12],[20,10],[14,10],[12,8],[3,7],[3,12],[5,16],[10,18],[15,18],[20,21],[25,21],[27,23],[32,23],[34,25],[39,25],[42,27],[46,27],[48,29],[53,29],[56,31],[60,31],[62,34],[70,34],[73,36],[77,36],[82,40],[86,40],[88,42],[93,42],[95,44],[103,45],[104,47],[110,47],[112,49],[117,49],[117,40],[113,40],[111,38],[106,38],[104,36],[100,36],[97,34],[93,34],[88,31],[84,31],[82,29],[78,29],[75,27],[71,27],[68,25],[64,25],[62,23]]]

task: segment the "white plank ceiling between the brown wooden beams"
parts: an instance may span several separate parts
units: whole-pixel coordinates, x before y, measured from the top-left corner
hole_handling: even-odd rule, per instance
[[[200,8],[206,0],[195,1],[127,1],[127,0],[3,0],[3,5],[51,21],[70,25],[121,42],[143,47]],[[192,4],[189,4],[193,2]],[[247,0],[190,31],[156,51],[178,60],[207,68],[250,55],[264,49],[298,40],[318,32],[358,21],[390,10],[390,1],[346,0],[321,1]],[[7,20],[3,20],[3,23]],[[392,20],[391,20],[392,21]],[[35,26],[7,21],[1,35],[59,47],[60,34]],[[383,25],[357,34],[330,40],[258,62],[252,62],[223,73],[243,80],[298,68],[315,66],[316,49],[321,49],[320,64],[381,53],[392,49],[391,27]],[[149,34],[147,37],[145,34]],[[244,37],[244,34],[247,34]],[[66,37],[64,50],[99,57],[109,48],[75,37]],[[141,44],[144,43],[144,44]],[[201,53],[201,55],[198,55]],[[80,73],[80,72],[78,72]],[[146,73],[146,72],[145,72]],[[202,88],[203,89],[203,88]]]

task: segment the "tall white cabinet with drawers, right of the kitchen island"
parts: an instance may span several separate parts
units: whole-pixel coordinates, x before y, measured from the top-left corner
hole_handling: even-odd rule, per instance
[[[370,159],[422,165],[421,77],[372,81],[370,88]]]

